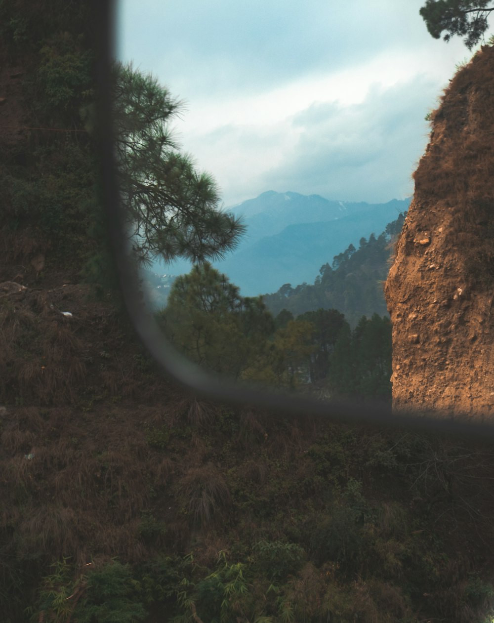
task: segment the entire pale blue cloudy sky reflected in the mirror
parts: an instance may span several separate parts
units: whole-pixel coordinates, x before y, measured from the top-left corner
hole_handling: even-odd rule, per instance
[[[120,0],[116,56],[184,100],[174,137],[225,207],[268,190],[404,199],[424,117],[475,51],[432,39],[423,4]]]

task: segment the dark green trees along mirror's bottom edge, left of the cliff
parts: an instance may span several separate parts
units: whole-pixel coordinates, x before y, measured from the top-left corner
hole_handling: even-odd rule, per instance
[[[206,263],[176,278],[156,317],[178,350],[214,373],[325,397],[391,400],[391,323],[377,313],[353,331],[335,309],[296,318],[283,309],[273,318],[263,297],[241,297]]]

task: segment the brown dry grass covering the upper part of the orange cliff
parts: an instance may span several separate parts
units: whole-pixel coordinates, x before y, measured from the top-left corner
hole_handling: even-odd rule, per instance
[[[446,207],[449,249],[460,252],[462,272],[480,291],[494,283],[493,67],[494,48],[485,47],[457,72],[431,115],[430,143],[413,175],[420,222],[435,228],[429,208]]]

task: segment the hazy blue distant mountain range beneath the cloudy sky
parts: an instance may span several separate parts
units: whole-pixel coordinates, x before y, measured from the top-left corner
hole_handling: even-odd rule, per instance
[[[384,204],[330,201],[319,195],[267,191],[227,211],[244,216],[247,234],[239,247],[214,266],[244,296],[275,292],[284,283],[312,283],[321,265],[362,237],[379,235],[408,209],[411,198]],[[155,267],[178,275],[188,262]]]

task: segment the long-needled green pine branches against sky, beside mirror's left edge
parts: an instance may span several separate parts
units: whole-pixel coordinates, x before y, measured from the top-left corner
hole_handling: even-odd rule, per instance
[[[204,262],[234,249],[245,227],[221,210],[216,183],[171,134],[182,103],[151,75],[120,63],[113,96],[117,174],[136,259]]]

